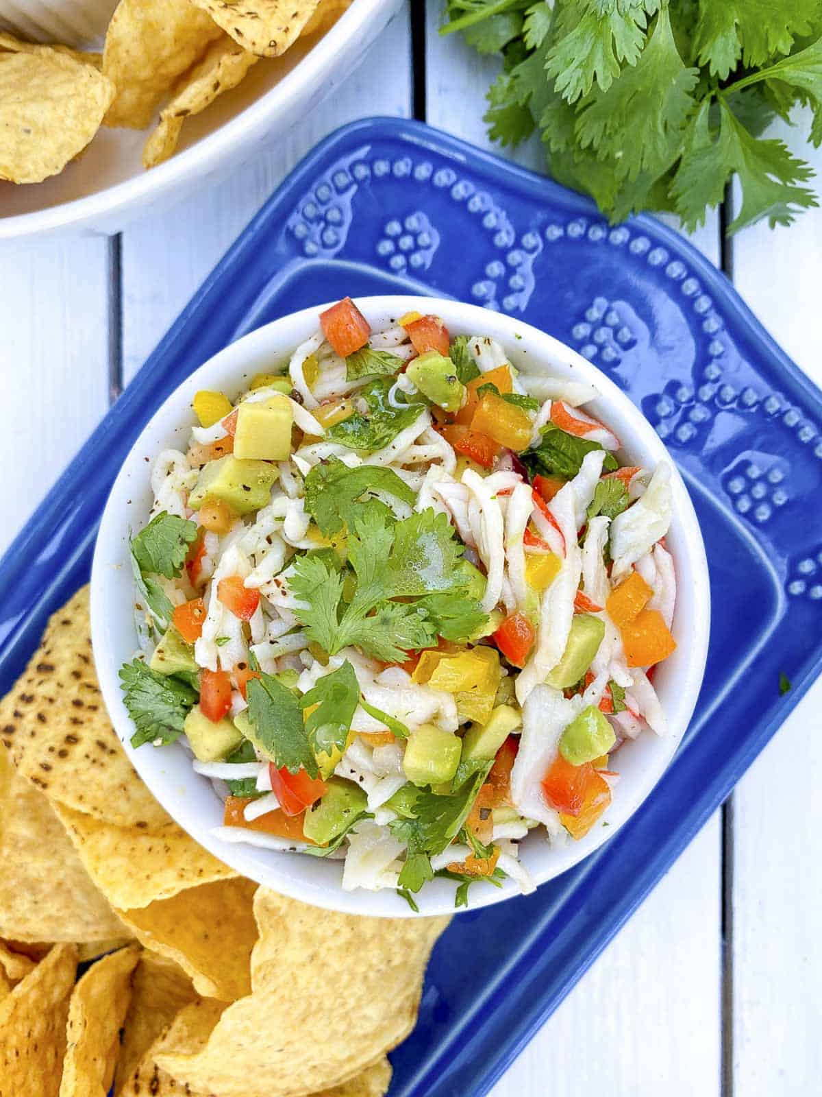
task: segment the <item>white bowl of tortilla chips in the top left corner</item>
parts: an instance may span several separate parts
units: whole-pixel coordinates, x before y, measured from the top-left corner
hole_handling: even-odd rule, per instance
[[[236,170],[333,91],[400,0],[121,0],[102,55],[75,49],[79,23],[58,46],[21,41],[64,7],[0,0],[20,35],[0,30],[0,239],[115,233]]]

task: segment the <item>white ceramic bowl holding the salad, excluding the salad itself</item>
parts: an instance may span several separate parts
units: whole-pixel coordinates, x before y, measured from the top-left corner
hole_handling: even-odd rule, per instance
[[[660,461],[671,461],[653,428],[612,381],[575,351],[529,325],[476,305],[431,297],[365,297],[357,304],[375,329],[389,326],[410,309],[433,312],[442,316],[452,335],[481,333],[499,339],[521,370],[547,370],[557,376],[591,382],[602,395],[586,407],[623,439],[623,454],[630,464],[653,467]],[[117,680],[119,667],[134,657],[137,646],[127,533],[129,527],[138,529],[145,523],[152,502],[147,459],[168,446],[186,449],[193,422],[191,402],[197,389],[238,394],[254,373],[282,361],[317,330],[321,307],[275,320],[216,354],[169,397],[140,434],[114,484],[98,535],[91,577],[94,658],[109,712],[137,771],[163,807],[201,845],[243,875],[294,898],[354,914],[403,916],[410,913],[409,907],[392,891],[344,892],[340,886],[340,862],[229,845],[215,838],[210,832],[221,823],[222,803],[210,782],[194,772],[191,756],[181,744],[132,749],[128,740],[134,726]],[[616,834],[659,780],[690,720],[708,649],[708,569],[696,514],[677,473],[672,488],[674,518],[666,542],[676,564],[678,592],[673,632],[678,646],[660,665],[654,678],[670,734],[658,738],[646,733],[619,750],[621,780],[606,815],[608,827],[594,827],[581,841],[558,850],[551,850],[539,832],[528,836],[521,847],[522,860],[538,884],[559,875]],[[446,880],[426,884],[418,896],[421,912],[449,913],[454,890],[455,884]],[[517,893],[511,880],[499,890],[478,886],[471,891],[471,907]]]

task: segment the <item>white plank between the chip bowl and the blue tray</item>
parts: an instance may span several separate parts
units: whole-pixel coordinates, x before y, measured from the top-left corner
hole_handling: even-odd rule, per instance
[[[379,98],[375,100],[375,89]],[[369,113],[411,111],[411,34],[400,11],[368,58],[282,142],[226,182],[123,234],[123,364],[134,376],[226,248],[324,136]]]

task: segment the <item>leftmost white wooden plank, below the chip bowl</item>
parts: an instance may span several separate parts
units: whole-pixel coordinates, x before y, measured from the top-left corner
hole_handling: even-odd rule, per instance
[[[109,406],[103,239],[0,248],[0,553]]]

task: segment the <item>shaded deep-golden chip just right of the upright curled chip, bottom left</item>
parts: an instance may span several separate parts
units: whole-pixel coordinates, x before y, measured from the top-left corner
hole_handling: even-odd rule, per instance
[[[192,982],[173,960],[144,951],[132,976],[132,1002],[123,1022],[123,1042],[114,1090],[132,1077],[142,1058],[175,1015],[196,1000]],[[151,1093],[145,1089],[144,1093]]]

